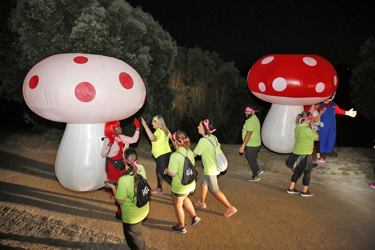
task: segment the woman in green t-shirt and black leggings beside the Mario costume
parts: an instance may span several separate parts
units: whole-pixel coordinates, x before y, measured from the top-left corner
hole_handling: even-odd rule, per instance
[[[314,141],[319,141],[318,132],[316,132],[314,119],[309,111],[303,111],[296,117],[297,127],[295,129],[295,143],[292,153],[285,161],[285,165],[293,172],[288,194],[300,194],[303,197],[313,196],[308,190],[312,170],[312,149]],[[297,180],[303,173],[302,192],[296,189]]]

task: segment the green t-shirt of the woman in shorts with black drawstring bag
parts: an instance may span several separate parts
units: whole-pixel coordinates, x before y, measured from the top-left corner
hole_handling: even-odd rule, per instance
[[[195,190],[195,180],[188,185],[181,184],[181,178],[184,170],[185,156],[188,155],[189,160],[194,165],[194,154],[185,147],[181,147],[176,152],[171,154],[169,158],[168,170],[171,173],[177,173],[176,176],[172,177],[172,192],[176,194],[187,194]]]

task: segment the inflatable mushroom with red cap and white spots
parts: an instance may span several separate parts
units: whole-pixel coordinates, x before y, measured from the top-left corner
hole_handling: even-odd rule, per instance
[[[250,91],[272,103],[262,126],[263,144],[278,153],[292,152],[296,116],[304,105],[327,100],[338,87],[335,68],[315,55],[268,55],[247,76]]]

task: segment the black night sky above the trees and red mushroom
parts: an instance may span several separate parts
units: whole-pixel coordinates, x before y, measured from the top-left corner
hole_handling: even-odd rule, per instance
[[[370,0],[128,0],[178,46],[216,51],[246,74],[268,54],[315,54],[354,67],[374,29]],[[247,3],[246,3],[247,2]]]

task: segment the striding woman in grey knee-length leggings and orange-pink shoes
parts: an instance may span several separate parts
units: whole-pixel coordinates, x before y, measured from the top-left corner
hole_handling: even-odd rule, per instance
[[[216,162],[216,151],[212,144],[220,147],[220,143],[216,136],[211,134],[216,131],[212,122],[210,120],[204,120],[199,123],[198,133],[202,135],[203,138],[199,139],[198,144],[193,150],[194,157],[197,155],[202,156],[203,174],[200,179],[200,200],[194,202],[194,206],[207,208],[205,200],[207,196],[208,189],[215,195],[215,198],[224,204],[226,207],[225,217],[229,217],[237,212],[237,209],[233,207],[222,191],[219,190],[217,175],[220,174],[218,170],[218,164]],[[208,142],[207,140],[210,140]]]

